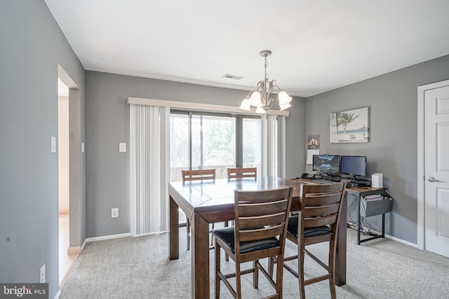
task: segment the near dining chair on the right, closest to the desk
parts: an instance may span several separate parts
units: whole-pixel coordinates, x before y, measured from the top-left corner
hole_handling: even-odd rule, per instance
[[[304,286],[326,279],[329,280],[331,298],[336,298],[335,251],[345,188],[345,182],[302,185],[300,212],[288,219],[287,239],[297,244],[297,255],[285,257],[283,266],[299,280],[300,296],[303,299],[305,298]],[[327,263],[324,263],[306,249],[308,245],[322,242],[329,242]],[[327,273],[304,280],[304,253],[321,265]],[[297,259],[298,272],[286,263],[288,260],[295,259]],[[272,274],[272,264],[269,265],[269,271]]]

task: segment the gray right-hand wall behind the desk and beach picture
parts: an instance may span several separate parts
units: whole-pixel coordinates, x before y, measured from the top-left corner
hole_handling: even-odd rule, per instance
[[[449,55],[307,99],[306,132],[321,135],[321,153],[366,155],[394,197],[387,234],[417,244],[417,87],[449,78]],[[330,144],[329,113],[370,107],[370,141]],[[307,169],[311,172],[310,165]],[[375,225],[377,228],[377,225]]]

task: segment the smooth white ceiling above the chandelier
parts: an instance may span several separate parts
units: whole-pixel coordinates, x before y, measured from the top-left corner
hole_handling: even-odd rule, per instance
[[[45,1],[83,67],[113,74],[250,90],[269,49],[270,79],[309,97],[449,54],[448,0]]]

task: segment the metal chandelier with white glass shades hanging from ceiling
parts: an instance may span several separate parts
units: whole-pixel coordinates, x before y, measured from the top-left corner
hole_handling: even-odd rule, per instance
[[[281,111],[286,110],[288,107],[292,106],[290,105],[292,97],[290,97],[287,92],[281,90],[281,88],[279,88],[279,86],[274,83],[276,80],[269,81],[267,73],[267,57],[272,54],[272,51],[262,50],[259,54],[265,59],[264,81],[259,81],[259,83],[257,83],[257,89],[248,93],[245,99],[243,99],[243,101],[241,102],[239,108],[245,111],[251,111],[251,106],[253,106],[256,107],[256,113],[267,113],[267,110],[269,110],[270,108],[269,104],[274,101],[274,99],[270,97],[270,95],[272,92],[277,92]]]

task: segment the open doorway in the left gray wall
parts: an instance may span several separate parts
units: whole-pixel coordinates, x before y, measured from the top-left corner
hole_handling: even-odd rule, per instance
[[[58,255],[59,283],[62,285],[69,268],[81,252],[81,242],[85,237],[85,167],[78,85],[59,64],[58,77],[55,79],[58,80]]]

